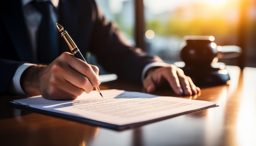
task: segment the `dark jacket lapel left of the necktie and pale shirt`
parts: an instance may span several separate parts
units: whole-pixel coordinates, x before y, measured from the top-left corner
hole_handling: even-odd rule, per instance
[[[4,23],[21,61],[34,62],[20,0],[6,0]]]

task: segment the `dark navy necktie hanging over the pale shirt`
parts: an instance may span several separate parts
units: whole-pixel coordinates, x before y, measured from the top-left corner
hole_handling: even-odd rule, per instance
[[[41,13],[42,19],[36,32],[38,62],[50,63],[58,56],[57,29],[52,21],[50,7],[52,3],[32,1],[34,7]]]

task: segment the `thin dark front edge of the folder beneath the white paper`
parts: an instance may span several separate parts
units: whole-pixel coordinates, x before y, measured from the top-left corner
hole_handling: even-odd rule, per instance
[[[5,103],[4,105],[11,106],[11,107],[14,107],[14,108],[20,108],[20,109],[24,109],[24,110],[28,110],[28,111],[33,111],[33,112],[40,113],[40,114],[43,114],[43,115],[49,115],[49,116],[52,116],[52,117],[58,117],[58,118],[67,119],[67,120],[71,120],[71,121],[75,121],[75,122],[80,122],[80,123],[83,123],[83,124],[90,124],[92,126],[99,126],[99,127],[103,127],[103,128],[108,128],[108,129],[112,129],[112,130],[115,130],[115,131],[124,131],[124,130],[131,129],[131,128],[137,128],[139,126],[143,126],[143,125],[150,124],[150,123],[155,123],[155,122],[158,122],[158,121],[162,121],[164,119],[169,119],[171,117],[177,117],[179,115],[184,115],[184,114],[187,114],[187,113],[192,113],[192,112],[195,112],[195,111],[201,111],[203,109],[218,106],[217,104],[215,104],[215,105],[212,105],[212,106],[207,106],[205,108],[199,108],[197,110],[186,111],[186,112],[178,113],[178,114],[175,114],[175,115],[168,115],[168,116],[165,116],[165,117],[160,117],[160,118],[152,119],[152,120],[148,120],[148,121],[126,124],[126,125],[115,125],[115,124],[109,124],[109,123],[105,123],[105,122],[96,121],[96,120],[93,120],[93,119],[75,117],[75,116],[72,116],[72,115],[65,115],[65,114],[62,114],[62,113],[56,113],[56,112],[46,111],[46,110],[42,110],[42,109],[38,109],[38,108],[32,108],[32,107],[29,107],[29,106],[15,104],[15,103],[11,103],[11,102]]]

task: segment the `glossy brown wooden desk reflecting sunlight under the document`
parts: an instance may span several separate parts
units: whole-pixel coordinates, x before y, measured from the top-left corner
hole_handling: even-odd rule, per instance
[[[256,145],[256,68],[227,66],[230,85],[202,88],[201,95],[220,106],[147,124],[126,131],[72,122],[0,106],[0,145],[25,146],[253,146]],[[125,84],[126,83],[126,84]],[[137,84],[111,81],[101,90],[143,91]],[[158,95],[174,96],[172,91]],[[22,97],[1,97],[0,104]]]

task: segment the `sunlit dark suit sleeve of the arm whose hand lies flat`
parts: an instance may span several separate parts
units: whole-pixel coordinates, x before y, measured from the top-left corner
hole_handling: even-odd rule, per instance
[[[92,31],[90,52],[97,56],[97,62],[106,71],[141,82],[141,73],[147,64],[163,62],[159,57],[149,55],[129,44],[117,26],[105,20],[96,5],[95,13],[97,17]]]

